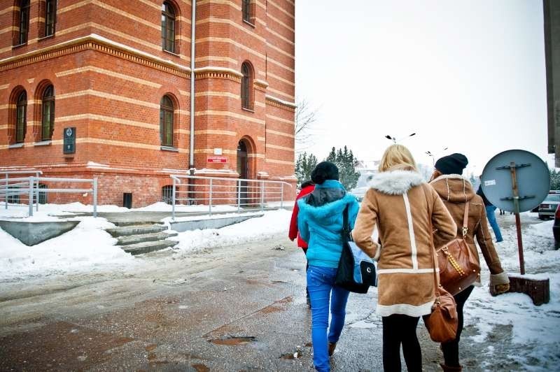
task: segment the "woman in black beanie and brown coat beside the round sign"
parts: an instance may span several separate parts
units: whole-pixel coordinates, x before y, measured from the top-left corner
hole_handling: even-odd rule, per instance
[[[433,172],[430,185],[440,196],[444,205],[451,213],[458,227],[457,236],[463,236],[463,217],[465,212],[465,203],[469,203],[468,210],[468,230],[465,241],[468,243],[473,255],[478,258],[478,251],[475,245],[475,236],[477,238],[480,251],[486,265],[490,269],[490,293],[494,296],[505,293],[510,289],[509,278],[500,264],[500,258],[496,252],[496,248],[492,243],[492,236],[486,223],[486,208],[482,197],[475,194],[472,185],[467,178],[461,176],[463,169],[468,164],[468,159],[463,154],[452,154],[442,157],[435,162],[435,171]],[[440,247],[449,240],[434,236],[434,244]],[[475,285],[480,285],[479,280]],[[458,329],[454,341],[442,343],[442,351],[444,364],[441,364],[445,372],[461,371],[459,364],[459,341],[461,339],[461,331],[463,330],[463,306],[470,296],[472,289],[469,287],[463,289],[454,296],[458,313]]]

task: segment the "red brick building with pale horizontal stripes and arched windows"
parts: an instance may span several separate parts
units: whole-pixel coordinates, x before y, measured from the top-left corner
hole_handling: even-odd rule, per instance
[[[99,203],[132,192],[134,206],[190,168],[293,183],[294,1],[196,1],[194,64],[192,10],[187,0],[0,0],[0,168],[97,177]],[[76,148],[64,154],[69,127]]]

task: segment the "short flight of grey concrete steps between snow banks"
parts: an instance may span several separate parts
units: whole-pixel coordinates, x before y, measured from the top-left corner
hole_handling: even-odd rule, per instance
[[[117,238],[117,245],[132,255],[142,255],[176,245],[178,242],[170,241],[167,238],[177,236],[177,233],[175,231],[164,232],[166,230],[167,226],[163,224],[152,224],[146,221],[106,229],[111,236]]]

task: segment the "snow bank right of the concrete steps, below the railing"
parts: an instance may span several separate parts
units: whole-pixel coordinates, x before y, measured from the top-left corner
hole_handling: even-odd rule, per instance
[[[174,249],[182,252],[264,240],[274,234],[288,234],[291,214],[289,210],[271,210],[265,212],[262,217],[251,218],[221,229],[185,231],[170,239],[179,241]]]

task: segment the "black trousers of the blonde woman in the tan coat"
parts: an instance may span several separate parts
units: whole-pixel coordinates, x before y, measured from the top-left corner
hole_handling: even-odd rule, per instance
[[[416,326],[420,317],[395,314],[383,320],[383,370],[400,371],[400,345],[409,372],[422,371],[422,351]]]

